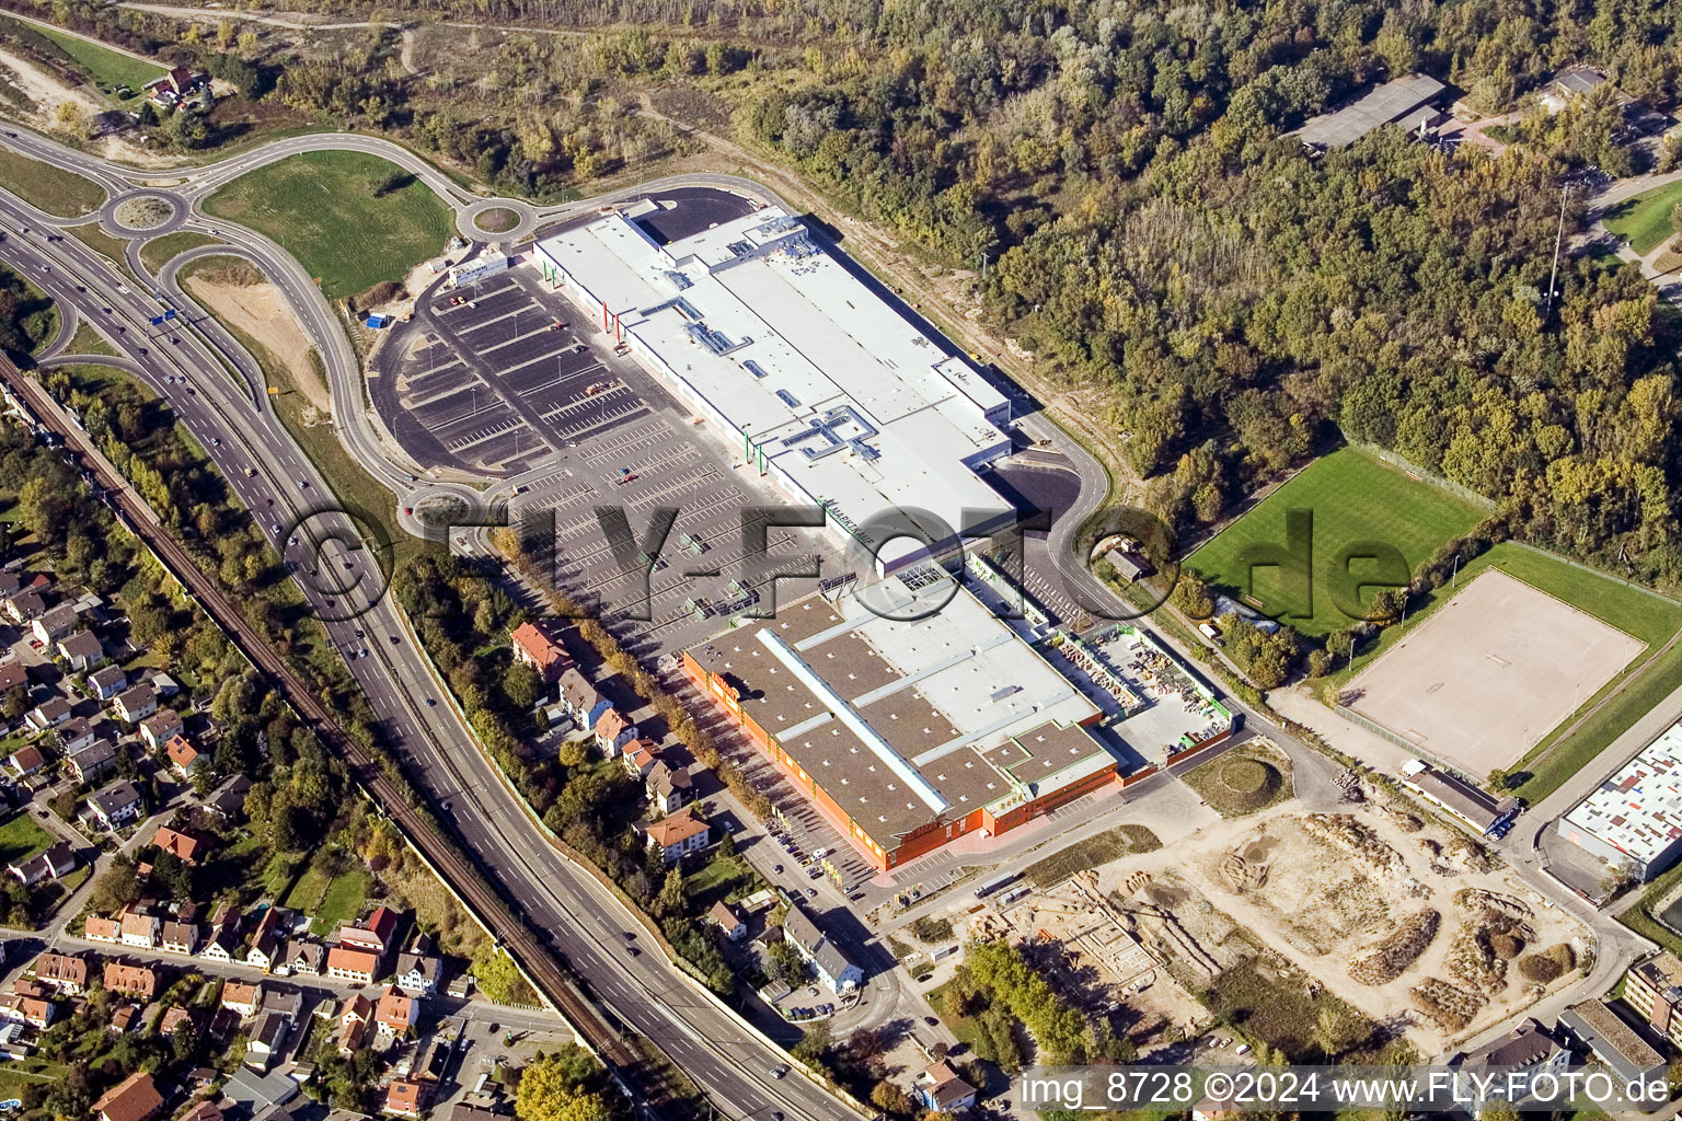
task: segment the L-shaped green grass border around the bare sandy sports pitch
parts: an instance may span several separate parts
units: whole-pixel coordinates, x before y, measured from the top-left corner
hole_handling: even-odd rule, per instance
[[[1515,785],[1509,792],[1534,805],[1558,790],[1568,776],[1586,766],[1643,713],[1672,691],[1682,689],[1682,644],[1669,650],[1663,649],[1682,629],[1682,603],[1633,588],[1551,553],[1502,543],[1463,565],[1452,587],[1443,585],[1430,593],[1423,605],[1415,607],[1408,615],[1406,629],[1386,627],[1379,640],[1354,659],[1352,671],[1339,669],[1337,674],[1325,679],[1327,687],[1341,687],[1351,676],[1359,674],[1373,659],[1381,657],[1394,645],[1406,630],[1430,618],[1457,588],[1487,568],[1499,568],[1509,576],[1564,600],[1647,644],[1647,652],[1640,659],[1606,682],[1600,692],[1583,701],[1576,713],[1510,768]],[[1601,703],[1605,704],[1601,706]],[[1601,708],[1596,709],[1596,706]],[[1475,778],[1482,778],[1482,775],[1475,775]]]

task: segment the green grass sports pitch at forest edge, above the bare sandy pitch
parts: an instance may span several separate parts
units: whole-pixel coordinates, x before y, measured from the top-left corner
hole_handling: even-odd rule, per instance
[[[1484,513],[1428,482],[1384,466],[1356,449],[1341,449],[1309,464],[1255,509],[1204,543],[1186,558],[1186,566],[1228,593],[1248,590],[1245,553],[1260,546],[1285,546],[1287,511],[1312,514],[1312,613],[1282,622],[1309,637],[1342,630],[1352,618],[1332,602],[1332,571],[1346,546],[1378,541],[1401,551],[1411,573],[1440,545],[1470,531]],[[1277,568],[1256,566],[1255,598],[1263,612],[1302,610],[1292,605],[1288,582]],[[1361,566],[1354,571],[1359,575]],[[1406,575],[1406,573],[1403,573]],[[1362,600],[1369,600],[1367,592]],[[1299,597],[1300,600],[1300,597]]]

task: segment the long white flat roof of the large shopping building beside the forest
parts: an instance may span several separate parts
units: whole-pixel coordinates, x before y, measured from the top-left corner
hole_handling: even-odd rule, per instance
[[[976,469],[1009,452],[1009,403],[777,207],[668,245],[606,213],[537,245],[688,403],[843,528],[927,509],[950,531],[1009,503]],[[743,444],[747,447],[747,444]],[[1011,516],[1014,518],[1014,514]],[[930,538],[937,523],[918,521]],[[908,543],[883,550],[891,565]]]

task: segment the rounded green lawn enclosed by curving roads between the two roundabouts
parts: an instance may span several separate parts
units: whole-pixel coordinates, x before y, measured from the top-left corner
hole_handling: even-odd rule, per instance
[[[272,237],[330,297],[400,281],[456,232],[451,210],[426,185],[353,151],[309,151],[247,171],[207,198],[205,210]]]

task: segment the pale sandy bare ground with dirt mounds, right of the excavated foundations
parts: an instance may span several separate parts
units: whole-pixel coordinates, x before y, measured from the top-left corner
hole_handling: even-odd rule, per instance
[[[1262,817],[1221,820],[1171,849],[1098,869],[1100,889],[1176,928],[1187,985],[1262,953],[1300,970],[1376,1024],[1398,1022],[1421,1054],[1505,1020],[1549,987],[1526,973],[1574,968],[1586,931],[1544,904],[1457,830],[1369,790],[1344,813],[1285,802]],[[1524,963],[1524,970],[1521,970]]]

